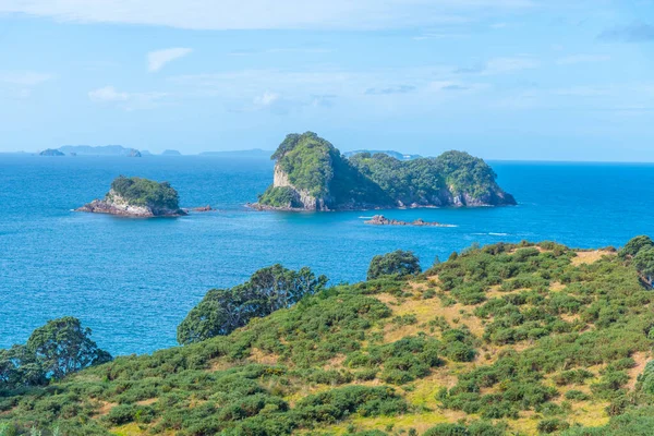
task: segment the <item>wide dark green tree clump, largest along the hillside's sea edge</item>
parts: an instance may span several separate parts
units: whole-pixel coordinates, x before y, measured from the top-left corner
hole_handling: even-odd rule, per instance
[[[259,269],[243,284],[207,292],[179,325],[178,342],[189,344],[229,335],[254,317],[290,307],[322,291],[327,281],[307,267],[294,271],[277,264]]]

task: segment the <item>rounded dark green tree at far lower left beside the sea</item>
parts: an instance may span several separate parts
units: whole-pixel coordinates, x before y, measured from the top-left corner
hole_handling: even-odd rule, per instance
[[[109,362],[111,355],[90,339],[90,329],[66,316],[34,330],[26,349],[48,378],[62,378],[87,366]]]

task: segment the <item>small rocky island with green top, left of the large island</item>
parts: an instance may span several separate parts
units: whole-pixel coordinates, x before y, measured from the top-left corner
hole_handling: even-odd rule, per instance
[[[76,211],[136,218],[186,215],[179,206],[178,192],[168,182],[123,175],[113,180],[105,198],[94,199]]]

